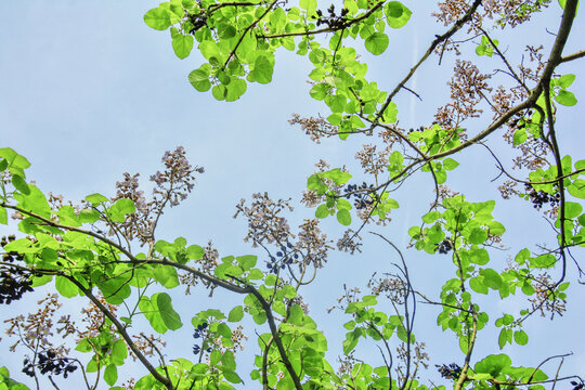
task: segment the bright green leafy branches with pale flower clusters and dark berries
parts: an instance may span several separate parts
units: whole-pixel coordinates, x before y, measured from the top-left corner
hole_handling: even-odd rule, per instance
[[[35,290],[50,295],[36,312],[3,316],[11,350],[24,362],[22,373],[0,368],[0,390],[73,382],[136,390],[582,390],[580,373],[561,369],[574,358],[571,351],[541,350],[533,365],[507,353],[530,343],[530,324],[544,322],[540,316],[557,320],[570,294],[582,294],[585,159],[563,152],[574,145],[562,128],[578,109],[578,75],[564,66],[585,57],[585,50],[566,49],[575,36],[577,1],[439,2],[433,17],[442,32],[398,74],[390,65],[406,58],[385,52],[392,35],[417,17],[411,8],[386,0],[171,0],[148,10],[144,23],[170,31],[179,58],[200,54],[198,67],[185,75],[194,93],[244,99],[250,83],[273,81],[286,50],[308,56],[310,99],[326,109],[314,117],[291,113],[289,122],[316,143],[365,144],[354,159],[343,155],[342,165],[316,161],[299,188],[303,208],[271,198],[264,192],[270,188],[237,204],[235,218],[245,221],[253,255],[224,255],[222,243],[206,244],[206,237],[161,238],[165,212],[181,206],[205,173],[187,159],[188,145],[165,153],[162,168],[150,176],[150,194],[139,174],[123,173],[115,194],[104,190],[80,202],[36,184],[27,174],[29,160],[43,161],[1,147],[0,223],[13,233],[1,240],[0,303],[30,299]],[[550,32],[547,41],[526,36],[522,50],[506,41],[548,14],[561,17],[540,26]],[[424,102],[432,91],[415,78],[445,63],[453,67],[447,101],[431,120],[403,128],[407,107],[399,104],[401,96]],[[375,66],[389,70],[376,79],[368,74]],[[479,151],[495,165],[497,199],[469,195],[484,179],[467,166]],[[466,180],[453,188],[453,177],[464,169]],[[399,202],[396,194],[415,179],[431,183],[430,205]],[[549,237],[528,232],[511,252],[506,226],[494,218],[510,199],[524,200],[518,220],[541,214]],[[401,239],[389,232],[392,216],[404,208],[418,222]],[[302,216],[297,227],[289,223],[292,212]],[[330,220],[343,226],[335,240]],[[346,320],[328,323],[301,294],[339,252],[359,256],[372,245],[365,234],[392,260],[366,285],[343,285],[340,298],[332,296],[330,311]],[[418,285],[411,275],[419,265],[410,261],[418,253],[441,261],[448,276],[437,275],[437,286]],[[180,309],[180,286],[194,297],[224,292],[229,310]],[[86,306],[63,315],[68,299]],[[452,340],[455,362],[427,353],[426,329],[416,322],[420,312],[430,312],[431,325]],[[543,326],[555,335],[555,321]],[[336,332],[342,338],[330,336]],[[188,339],[193,353],[172,355],[165,341],[173,337]],[[576,326],[571,337],[580,339]],[[328,352],[333,344],[341,346],[340,356]],[[244,348],[253,356],[242,358]],[[132,360],[141,366],[139,378],[126,376]],[[443,382],[432,381],[430,370]]]

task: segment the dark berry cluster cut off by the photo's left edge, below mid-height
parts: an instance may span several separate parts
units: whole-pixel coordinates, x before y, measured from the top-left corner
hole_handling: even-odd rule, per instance
[[[0,245],[2,248],[10,242],[16,239],[14,235],[2,237]],[[2,261],[14,262],[14,260],[24,260],[24,257],[16,252],[2,255]],[[30,274],[13,268],[0,268],[0,304],[10,304],[13,300],[18,300],[25,292],[32,291],[32,284],[29,281]]]

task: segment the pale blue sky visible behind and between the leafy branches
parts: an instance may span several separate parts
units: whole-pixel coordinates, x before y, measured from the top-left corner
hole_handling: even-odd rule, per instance
[[[321,5],[326,8],[328,4]],[[361,43],[354,46],[367,58],[368,79],[377,80],[386,90],[403,77],[434,35],[445,30],[429,17],[434,10],[433,2],[405,1],[405,4],[413,10],[413,18],[406,27],[390,31],[390,47],[385,54],[373,58],[365,54]],[[262,255],[242,240],[246,235],[245,221],[232,219],[240,198],[268,191],[273,198],[292,197],[298,205],[307,177],[320,158],[333,167],[348,165],[355,182],[362,182],[353,156],[362,144],[376,141],[355,136],[347,142],[332,139],[315,145],[299,128],[287,122],[291,113],[327,115],[324,105],[309,96],[310,86],[304,82],[310,72],[307,58],[281,52],[271,84],[248,84],[247,92],[237,102],[217,102],[210,93],[195,91],[186,79],[188,72],[200,64],[196,50],[181,61],[172,52],[169,32],[155,31],[144,24],[144,13],[156,5],[156,1],[136,0],[0,2],[0,13],[5,15],[0,25],[0,146],[10,146],[31,161],[28,179],[35,180],[44,192],[61,193],[73,200],[94,192],[109,196],[115,192],[115,182],[126,171],[140,172],[146,185],[148,176],[159,169],[164,152],[183,145],[191,162],[205,167],[206,172],[198,177],[190,198],[165,214],[158,238],[172,240],[184,236],[188,243],[199,245],[212,239],[222,256]],[[546,28],[556,31],[559,15],[560,9],[555,1],[545,15],[535,17],[530,28],[512,30],[514,34],[495,31],[494,37],[505,42],[507,53],[518,61],[519,48],[529,37],[531,41],[525,43],[550,47],[554,37]],[[566,53],[583,49],[578,40],[584,34],[581,13]],[[437,57],[432,57],[421,67],[411,87],[421,95],[422,103],[406,92],[399,95],[395,102],[404,127],[432,121],[435,107],[448,98],[445,83],[451,77],[453,61],[453,57],[445,57],[438,67]],[[559,70],[577,72],[578,67],[583,68],[583,61],[563,65]],[[493,63],[485,64],[493,66]],[[559,108],[566,115],[560,116],[557,128],[561,129],[561,151],[577,160],[583,158],[580,151],[583,126],[576,115],[583,112],[585,102],[582,74],[577,74],[571,91],[580,103],[575,107]],[[481,123],[473,126],[472,131],[481,129]],[[491,145],[498,143],[491,142]],[[500,155],[504,158],[510,156]],[[511,249],[491,251],[491,266],[503,269],[506,259],[523,247],[535,249],[536,244],[554,243],[555,236],[548,224],[529,203],[499,198],[497,185],[490,182],[497,176],[497,170],[485,150],[466,151],[456,158],[461,167],[450,176],[448,183],[465,193],[470,202],[496,199],[494,217],[507,227],[504,242]],[[463,168],[465,165],[468,166],[466,169]],[[469,174],[474,174],[472,182]],[[334,365],[344,338],[340,325],[350,318],[336,312],[328,315],[326,308],[335,304],[342,294],[343,283],[348,287],[364,285],[374,271],[391,272],[390,263],[399,261],[367,231],[385,234],[404,250],[415,288],[438,297],[440,289],[435,280],[443,282],[453,277],[447,257],[405,249],[406,230],[419,224],[420,216],[433,198],[428,176],[416,176],[395,194],[401,208],[393,214],[391,225],[366,227],[362,234],[365,239],[362,255],[351,257],[333,252],[315,283],[300,291],[311,304],[311,315],[329,338],[329,362]],[[296,226],[313,214],[313,209],[299,205],[289,216],[290,225]],[[342,232],[333,219],[323,221],[323,229],[335,240]],[[11,230],[1,226],[0,234],[5,232]],[[570,272],[574,275],[574,266]],[[574,277],[571,281],[574,282]],[[363,291],[367,290],[364,288]],[[534,317],[525,327],[529,346],[510,348],[508,344],[505,348],[504,352],[510,354],[515,365],[536,366],[549,355],[574,352],[566,360],[561,373],[585,375],[582,368],[585,366],[585,337],[580,332],[585,321],[585,294],[576,284],[569,292],[568,312],[563,317],[556,317],[554,322]],[[165,335],[169,341],[169,359],[192,356],[188,313],[208,308],[227,308],[227,312],[234,299],[238,302],[243,299],[218,291],[212,300],[207,298],[207,292],[183,298],[181,287],[170,294],[177,297],[174,306],[183,313],[185,326]],[[35,311],[35,299],[28,298],[2,308],[2,320],[15,315],[12,313]],[[480,303],[483,301],[495,308],[490,311],[492,321],[505,312],[517,314],[525,306],[502,304],[497,303],[498,299],[494,292],[480,297]],[[77,311],[79,302],[69,301],[65,308]],[[434,307],[419,304],[415,334],[418,340],[427,343],[431,356],[431,366],[422,378],[448,386],[448,381],[440,378],[434,364],[463,364],[463,354],[455,338],[441,333],[434,325],[438,313]],[[247,325],[245,333],[255,340],[255,326]],[[266,332],[265,326],[257,328],[259,333]],[[11,343],[5,337],[0,342],[0,366],[9,366],[15,379],[31,385],[20,373],[24,350],[11,354],[6,351]],[[249,356],[256,349],[256,341],[250,342],[238,364],[238,373],[247,388],[257,387],[248,377]],[[491,353],[500,353],[494,329],[480,334],[473,361]],[[374,365],[382,364],[375,348],[362,348],[356,355]],[[547,368],[550,374],[555,370],[556,365]],[[135,378],[145,375],[140,366],[129,366],[126,373]],[[106,388],[103,381],[100,388]],[[568,388],[568,385],[561,388]]]

